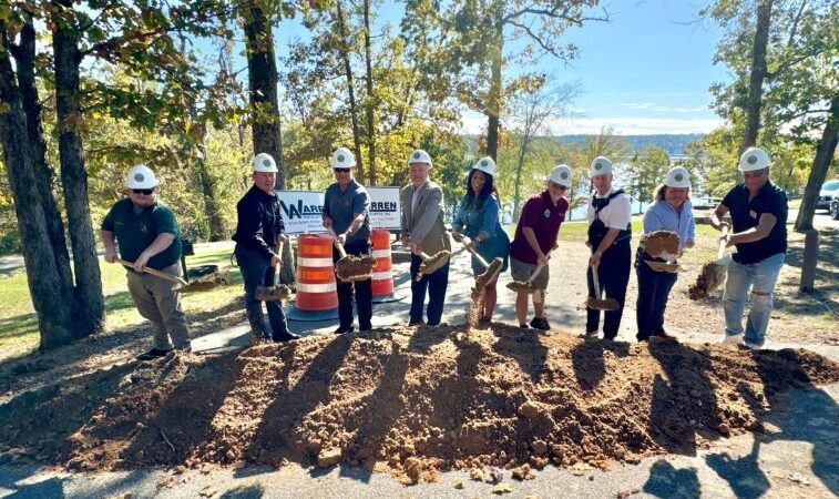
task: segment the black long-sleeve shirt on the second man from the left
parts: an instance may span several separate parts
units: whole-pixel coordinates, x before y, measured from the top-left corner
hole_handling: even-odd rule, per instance
[[[286,230],[276,195],[266,194],[256,185],[236,203],[238,222],[233,241],[248,249],[255,249],[270,259],[277,236]]]

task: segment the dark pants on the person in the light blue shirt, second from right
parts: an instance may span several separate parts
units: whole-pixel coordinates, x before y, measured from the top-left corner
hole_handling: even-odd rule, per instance
[[[655,272],[645,264],[646,259],[656,259],[638,248],[635,257],[635,273],[638,276],[638,301],[636,305],[638,342],[651,336],[664,334],[664,310],[667,308],[667,298],[671,289],[676,284],[678,274],[669,272]],[[664,262],[657,258],[659,262]]]

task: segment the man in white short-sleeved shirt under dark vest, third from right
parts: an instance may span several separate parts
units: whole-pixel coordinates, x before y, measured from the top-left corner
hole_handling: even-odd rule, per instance
[[[587,282],[589,296],[594,296],[594,273],[597,268],[600,288],[606,298],[617,302],[616,310],[604,312],[603,337],[615,339],[621,328],[626,287],[630,284],[632,269],[632,204],[623,190],[612,186],[612,162],[604,156],[597,156],[589,166],[589,177],[594,185],[594,192],[589,200],[589,240],[585,244],[591,247],[589,258]],[[589,308],[585,322],[585,335],[594,337],[600,328],[600,310]]]

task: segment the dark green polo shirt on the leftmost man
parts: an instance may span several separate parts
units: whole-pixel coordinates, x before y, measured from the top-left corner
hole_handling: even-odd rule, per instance
[[[102,221],[102,230],[114,233],[120,244],[120,257],[129,262],[137,259],[158,234],[173,234],[175,241],[172,245],[152,256],[149,266],[161,269],[181,259],[181,231],[177,228],[175,214],[160,201],[134,213],[134,204],[130,198],[120,200]]]

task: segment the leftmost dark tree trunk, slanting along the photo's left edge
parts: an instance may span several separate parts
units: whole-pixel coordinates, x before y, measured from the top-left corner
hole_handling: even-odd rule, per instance
[[[27,112],[16,81],[6,22],[0,20],[0,144],[23,243],[23,262],[32,305],[38,314],[41,347],[52,348],[75,338],[75,298],[57,266],[47,214],[40,200],[33,162],[38,145],[30,144]],[[66,252],[66,248],[61,248]]]

